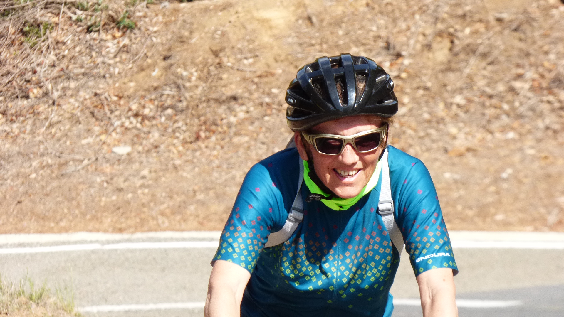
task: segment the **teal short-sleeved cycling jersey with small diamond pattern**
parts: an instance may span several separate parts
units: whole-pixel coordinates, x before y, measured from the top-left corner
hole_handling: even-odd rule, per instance
[[[439,267],[456,274],[429,171],[417,158],[387,149],[394,216],[415,275]],[[391,316],[389,290],[400,257],[377,212],[381,180],[347,210],[304,201],[303,221],[294,234],[264,248],[270,232],[279,231],[288,217],[298,164],[295,148],[255,164],[222,231],[213,260],[233,262],[251,274],[241,315]],[[310,194],[307,186],[301,190],[302,197]]]

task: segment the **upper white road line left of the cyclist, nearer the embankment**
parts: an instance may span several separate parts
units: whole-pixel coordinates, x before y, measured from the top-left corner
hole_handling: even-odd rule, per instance
[[[174,242],[138,242],[114,244],[65,244],[52,246],[33,246],[29,248],[0,248],[0,254],[45,253],[90,250],[126,250],[126,249],[188,249],[217,248],[217,241],[174,241]]]

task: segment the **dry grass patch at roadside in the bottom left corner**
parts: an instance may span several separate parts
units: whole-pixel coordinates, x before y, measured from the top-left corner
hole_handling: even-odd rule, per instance
[[[14,283],[0,279],[0,315],[14,317],[80,316],[74,309],[72,294],[57,290],[52,294],[45,283],[36,285],[29,278]]]

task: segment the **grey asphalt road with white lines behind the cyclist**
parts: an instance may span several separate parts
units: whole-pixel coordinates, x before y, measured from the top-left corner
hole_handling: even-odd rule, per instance
[[[460,268],[455,278],[457,298],[470,300],[470,306],[479,300],[521,301],[509,307],[462,303],[460,316],[564,316],[564,247],[550,245],[554,237],[564,244],[564,235],[534,235],[519,234],[513,239],[548,246],[523,249],[518,248],[522,244],[507,245],[507,237],[500,234],[484,238],[483,234],[451,233]],[[8,280],[27,275],[36,283],[46,281],[52,289],[72,289],[76,305],[84,307],[87,316],[202,316],[214,243],[185,241],[216,239],[217,232],[0,235],[0,274]],[[67,250],[60,250],[61,246]],[[422,316],[406,254],[391,293],[400,300],[394,317]],[[174,309],[175,305],[180,307]],[[104,311],[108,309],[122,311]]]

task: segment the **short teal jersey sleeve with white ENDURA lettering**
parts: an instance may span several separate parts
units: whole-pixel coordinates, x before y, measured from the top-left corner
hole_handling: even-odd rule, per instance
[[[398,217],[415,275],[439,267],[458,273],[447,227],[431,175],[413,160],[401,186]]]

